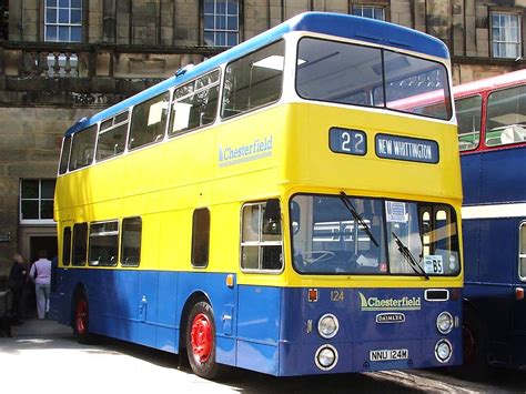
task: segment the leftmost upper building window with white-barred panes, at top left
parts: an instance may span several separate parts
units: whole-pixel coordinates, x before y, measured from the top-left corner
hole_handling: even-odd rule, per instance
[[[82,0],[45,0],[44,14],[45,41],[82,41]]]

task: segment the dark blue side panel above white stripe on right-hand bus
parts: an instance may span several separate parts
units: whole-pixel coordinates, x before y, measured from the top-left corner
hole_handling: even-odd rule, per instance
[[[526,145],[487,151],[482,158],[481,202],[526,201]]]

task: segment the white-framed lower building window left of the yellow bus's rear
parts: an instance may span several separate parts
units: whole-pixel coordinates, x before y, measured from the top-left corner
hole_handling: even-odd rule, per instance
[[[20,182],[20,223],[53,224],[55,180],[22,180]]]

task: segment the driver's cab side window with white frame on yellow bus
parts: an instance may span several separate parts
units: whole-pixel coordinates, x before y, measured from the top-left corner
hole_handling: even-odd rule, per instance
[[[277,202],[277,200],[271,200]],[[241,269],[281,271],[283,249],[281,219],[267,211],[269,203],[246,204],[241,218]],[[275,210],[274,210],[275,211]]]

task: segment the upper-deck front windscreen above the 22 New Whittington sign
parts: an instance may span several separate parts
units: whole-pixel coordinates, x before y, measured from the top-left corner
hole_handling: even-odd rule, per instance
[[[452,117],[444,64],[381,48],[313,38],[300,40],[296,91],[307,100]],[[422,113],[424,100],[436,107]]]

